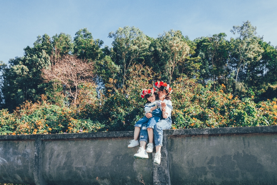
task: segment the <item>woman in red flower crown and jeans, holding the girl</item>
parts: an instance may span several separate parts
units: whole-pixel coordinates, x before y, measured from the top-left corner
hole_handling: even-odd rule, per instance
[[[158,91],[158,96],[159,99],[162,101],[161,106],[162,106],[162,115],[163,118],[156,123],[154,126],[154,141],[155,141],[155,147],[156,147],[156,154],[154,158],[154,162],[157,164],[160,164],[161,161],[161,147],[162,147],[162,140],[163,140],[163,130],[164,129],[170,129],[172,120],[171,120],[171,111],[173,109],[172,107],[172,102],[171,97],[169,94],[171,93],[171,88],[169,85],[163,82],[156,82],[155,83],[156,87],[159,89]],[[151,118],[152,114],[147,112],[145,113],[145,116],[147,118]],[[146,147],[146,142],[148,140],[148,133],[146,129],[141,129],[140,132],[140,149],[138,153],[136,153],[136,156],[145,156],[145,147]]]

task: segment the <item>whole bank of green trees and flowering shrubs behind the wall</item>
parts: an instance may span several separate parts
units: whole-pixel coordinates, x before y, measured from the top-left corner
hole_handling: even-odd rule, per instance
[[[132,130],[144,116],[141,88],[156,79],[173,87],[173,129],[276,125],[277,48],[249,21],[231,32],[230,40],[225,33],[190,40],[178,30],[151,38],[126,26],[109,33],[111,48],[87,28],[74,40],[38,36],[24,56],[0,61],[0,134]],[[42,73],[75,56],[85,71],[74,76],[72,64],[53,79]]]

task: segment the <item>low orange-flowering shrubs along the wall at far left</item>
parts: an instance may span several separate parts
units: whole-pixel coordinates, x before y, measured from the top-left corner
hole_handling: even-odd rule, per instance
[[[0,110],[0,134],[57,134],[97,132],[103,127],[97,121],[84,119],[78,109],[60,107],[44,101],[25,102],[9,114]]]

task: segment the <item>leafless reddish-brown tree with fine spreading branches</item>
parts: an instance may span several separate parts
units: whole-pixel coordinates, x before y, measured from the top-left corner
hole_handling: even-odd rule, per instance
[[[76,56],[66,55],[50,69],[42,69],[42,72],[46,82],[57,80],[66,86],[68,89],[66,94],[73,99],[73,104],[75,104],[79,86],[92,82],[95,75],[91,66],[94,66],[94,63],[88,63],[87,60],[78,59]]]

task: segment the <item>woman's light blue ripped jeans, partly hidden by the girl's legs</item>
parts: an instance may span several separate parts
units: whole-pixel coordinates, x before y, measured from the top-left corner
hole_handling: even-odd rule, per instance
[[[160,119],[154,126],[154,141],[155,147],[162,146],[162,139],[163,139],[163,130],[170,129],[172,124],[171,117],[166,119]],[[148,132],[147,129],[141,129],[139,141],[145,141],[147,143],[148,140]]]

